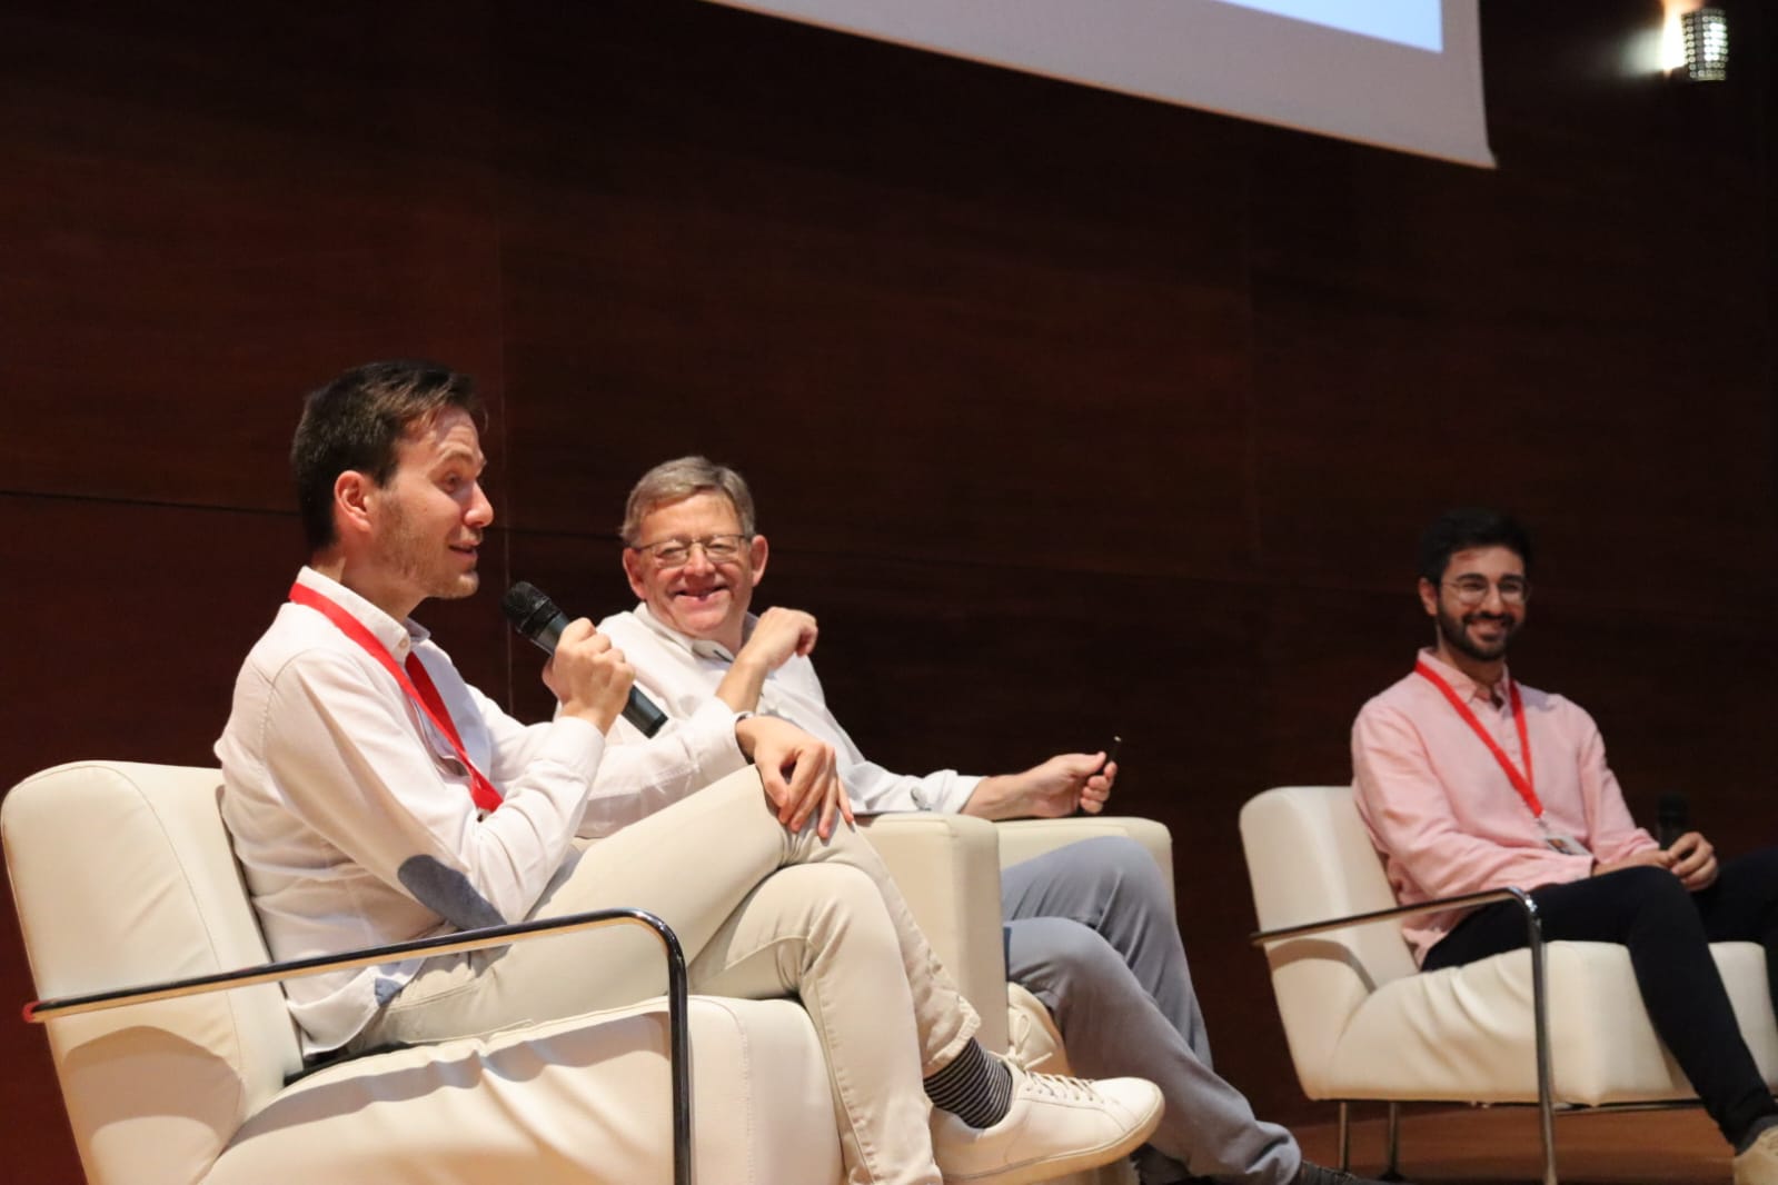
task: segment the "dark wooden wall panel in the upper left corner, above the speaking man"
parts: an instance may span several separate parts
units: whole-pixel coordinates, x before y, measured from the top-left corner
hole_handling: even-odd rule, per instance
[[[332,373],[436,354],[498,384],[485,28],[7,5],[5,487],[281,510],[295,396]]]

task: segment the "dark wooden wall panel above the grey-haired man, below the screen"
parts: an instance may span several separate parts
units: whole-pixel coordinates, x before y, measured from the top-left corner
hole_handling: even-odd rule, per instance
[[[613,11],[590,66],[541,34],[514,50],[523,524],[608,529],[583,481],[621,505],[649,464],[704,449],[781,481],[772,522],[802,545],[1124,567],[1147,528],[1118,510],[1166,499],[1189,508],[1195,560],[1236,563],[1241,243],[1181,231],[1236,226],[1239,194],[1214,185],[1220,155],[1152,151],[1181,124],[1207,146],[1229,130],[708,21],[720,36],[677,41]],[[759,85],[784,46],[813,71],[795,94]],[[885,73],[921,80],[894,115]],[[859,128],[880,131],[869,155]],[[562,153],[574,135],[585,151]]]

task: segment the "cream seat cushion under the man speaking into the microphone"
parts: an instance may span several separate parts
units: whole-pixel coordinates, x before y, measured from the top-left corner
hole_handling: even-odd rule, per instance
[[[839,1141],[807,1013],[692,998],[692,1135],[702,1185],[834,1185]],[[375,1054],[286,1087],[203,1180],[672,1180],[665,1002]]]

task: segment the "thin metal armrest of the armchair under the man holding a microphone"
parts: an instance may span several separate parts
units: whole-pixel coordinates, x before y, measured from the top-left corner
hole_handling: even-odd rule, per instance
[[[78,1016],[130,1004],[149,1004],[155,1000],[176,1000],[206,991],[226,991],[229,988],[247,988],[254,984],[320,975],[322,972],[345,970],[352,966],[375,966],[396,963],[416,954],[457,954],[462,950],[482,950],[485,947],[503,947],[512,942],[541,934],[573,934],[583,929],[605,926],[647,926],[660,938],[667,956],[667,1062],[672,1080],[672,1164],[674,1185],[692,1185],[692,1050],[690,1050],[690,1002],[685,968],[685,950],[679,936],[661,919],[644,910],[592,910],[587,913],[567,913],[562,917],[533,919],[512,922],[509,926],[485,926],[482,929],[464,929],[432,938],[414,938],[395,942],[384,947],[366,947],[343,954],[322,954],[308,959],[286,959],[283,963],[261,963],[242,966],[233,972],[213,972],[192,975],[188,979],[169,979],[158,984],[139,988],[117,988],[112,991],[94,991],[87,995],[60,997],[55,1000],[32,1000],[25,1006],[25,1020],[46,1023],[59,1016]]]

